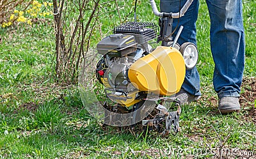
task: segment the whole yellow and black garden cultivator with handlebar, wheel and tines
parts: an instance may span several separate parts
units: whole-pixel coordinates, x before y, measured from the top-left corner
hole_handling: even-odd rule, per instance
[[[104,119],[108,125],[142,121],[143,126],[163,135],[179,132],[181,109],[175,93],[180,91],[186,69],[195,66],[198,53],[193,43],[177,43],[182,27],[173,39],[172,21],[184,15],[192,1],[187,1],[179,13],[160,13],[150,0],[154,14],[161,17],[160,31],[152,22],[126,22],[97,44],[102,58],[96,77],[104,85],[106,96],[116,102],[104,105],[110,111]],[[152,40],[161,42],[161,46],[152,48]],[[169,111],[173,105],[177,110]],[[115,119],[112,113],[129,116]]]

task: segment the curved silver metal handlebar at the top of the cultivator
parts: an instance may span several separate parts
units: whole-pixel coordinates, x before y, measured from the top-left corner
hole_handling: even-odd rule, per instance
[[[182,9],[178,13],[164,13],[164,12],[159,12],[158,11],[158,9],[156,7],[156,2],[154,0],[149,0],[149,1],[150,1],[150,4],[151,4],[154,15],[156,15],[157,17],[171,17],[173,19],[177,19],[179,17],[182,17],[184,15],[184,13],[186,13],[186,11],[188,10],[191,3],[193,2],[193,0],[186,1],[184,6],[182,7]]]

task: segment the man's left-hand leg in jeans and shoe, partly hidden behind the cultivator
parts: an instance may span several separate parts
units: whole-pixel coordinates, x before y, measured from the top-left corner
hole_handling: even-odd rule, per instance
[[[186,0],[181,0],[181,5],[179,0],[161,0],[160,9],[164,12],[176,13],[179,12],[179,6],[182,8],[185,3]],[[189,6],[189,9],[185,15],[179,19],[179,26],[173,34],[173,38],[175,38],[179,27],[184,26],[178,40],[180,45],[185,42],[192,42],[196,45],[196,20],[198,15],[198,7],[199,1],[194,0],[191,6]],[[172,29],[175,29],[177,24],[178,19],[173,19]],[[200,79],[196,67],[192,70],[186,70],[186,77],[184,79],[184,83],[182,84],[182,89],[183,90],[180,91],[180,93],[177,93],[177,100],[180,100],[179,98],[184,98],[180,100],[180,103],[189,102],[189,100],[196,100],[196,97],[201,96]],[[182,95],[180,96],[180,94]]]

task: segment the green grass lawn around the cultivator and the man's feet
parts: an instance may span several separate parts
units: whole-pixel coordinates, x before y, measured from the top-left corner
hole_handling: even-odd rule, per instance
[[[244,76],[255,77],[256,2],[244,1],[243,5]],[[138,11],[147,8],[145,14],[137,13],[138,18],[156,20],[148,7],[145,1],[138,6]],[[216,109],[209,15],[204,1],[198,17],[198,70],[203,96],[182,107],[182,132],[166,138],[154,134],[134,136],[113,127],[104,131],[83,107],[77,87],[54,83],[51,22],[1,28],[0,158],[180,158],[179,153],[196,156],[199,150],[203,155],[196,157],[205,158],[220,155],[215,148],[220,148],[221,143],[222,149],[239,149],[244,157],[256,154],[256,128],[248,111],[221,116]],[[211,149],[216,156],[204,154]]]

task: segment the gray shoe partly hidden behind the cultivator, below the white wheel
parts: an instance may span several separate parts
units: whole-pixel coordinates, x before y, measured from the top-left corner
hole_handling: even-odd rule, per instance
[[[177,100],[180,105],[184,105],[185,103],[193,102],[201,98],[201,96],[195,96],[189,94],[187,91],[184,89],[180,89],[178,93],[173,97],[173,99]]]

